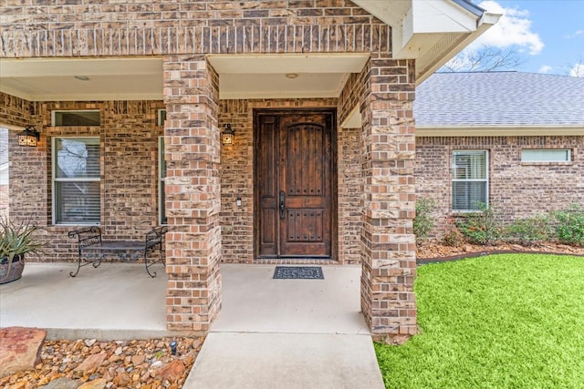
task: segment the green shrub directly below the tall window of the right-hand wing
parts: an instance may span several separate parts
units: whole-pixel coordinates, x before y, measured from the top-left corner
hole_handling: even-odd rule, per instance
[[[476,205],[478,211],[464,214],[464,217],[456,221],[456,227],[463,233],[464,238],[471,243],[494,243],[501,235],[501,228],[495,209],[482,202],[477,202]]]

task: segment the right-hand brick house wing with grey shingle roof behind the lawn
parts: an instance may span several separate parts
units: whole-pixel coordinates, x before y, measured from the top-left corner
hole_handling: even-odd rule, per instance
[[[416,194],[440,220],[493,206],[504,221],[584,205],[584,78],[436,73],[416,89]],[[537,205],[536,205],[537,204]]]

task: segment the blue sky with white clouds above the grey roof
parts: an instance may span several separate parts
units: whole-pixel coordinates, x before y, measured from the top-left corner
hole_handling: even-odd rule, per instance
[[[514,49],[523,61],[516,70],[564,76],[572,71],[571,76],[578,72],[584,77],[584,0],[474,0],[474,4],[503,14],[474,47]]]

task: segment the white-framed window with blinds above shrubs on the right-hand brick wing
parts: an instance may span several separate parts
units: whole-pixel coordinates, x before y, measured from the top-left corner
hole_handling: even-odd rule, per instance
[[[453,210],[480,210],[488,204],[488,155],[485,150],[454,151]]]

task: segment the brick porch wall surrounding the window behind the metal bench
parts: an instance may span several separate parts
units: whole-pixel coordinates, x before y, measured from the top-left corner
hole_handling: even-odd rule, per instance
[[[158,136],[156,126],[161,101],[43,102],[35,103],[41,138],[36,148],[17,145],[10,131],[10,217],[34,220],[50,239],[42,261],[73,261],[71,226],[53,226],[51,214],[51,138],[96,136],[100,138],[102,213],[104,238],[142,239],[158,224]],[[100,127],[51,127],[55,109],[99,109]],[[0,117],[2,118],[2,117]],[[4,120],[4,118],[0,119]],[[128,163],[131,159],[132,163]],[[120,196],[120,193],[123,196]],[[30,258],[30,261],[36,259]]]

